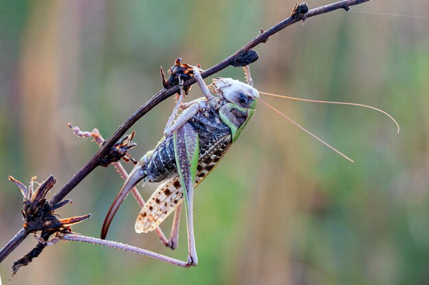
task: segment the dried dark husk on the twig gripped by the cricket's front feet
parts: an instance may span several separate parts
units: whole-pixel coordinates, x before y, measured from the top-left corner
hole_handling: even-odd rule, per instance
[[[182,58],[177,57],[175,60],[175,64],[171,66],[171,69],[169,69],[169,78],[165,79],[164,70],[161,69],[161,79],[162,79],[162,86],[164,86],[165,89],[169,89],[175,85],[179,85],[179,77],[183,81],[188,81],[188,79],[191,79],[194,75],[193,66],[189,64],[182,64],[181,63]],[[199,68],[199,64],[197,64],[197,68]],[[191,90],[191,86],[184,87],[184,92],[187,95],[189,93],[189,90]]]

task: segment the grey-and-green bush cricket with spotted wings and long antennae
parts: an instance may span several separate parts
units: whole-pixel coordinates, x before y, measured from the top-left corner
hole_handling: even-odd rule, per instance
[[[101,239],[105,239],[110,223],[119,206],[121,206],[127,194],[140,181],[143,180],[143,186],[146,183],[161,182],[138,214],[135,230],[138,233],[156,230],[160,223],[175,211],[171,238],[166,244],[171,249],[175,249],[177,246],[180,212],[184,201],[188,231],[188,258],[186,262],[182,262],[167,256],[156,257],[181,267],[195,266],[198,262],[193,226],[193,193],[195,187],[212,172],[225,155],[225,152],[236,142],[254,115],[258,102],[260,101],[264,105],[271,107],[271,105],[260,99],[259,94],[273,95],[258,92],[253,87],[249,66],[243,68],[247,83],[230,78],[217,78],[212,79],[212,83],[208,86],[201,77],[200,68],[197,66],[190,67],[204,97],[185,103],[184,96],[186,92],[182,86],[183,81],[179,77],[180,96],[177,98],[177,104],[164,129],[164,136],[154,150],[147,152],[132,169],[130,176],[125,180],[121,191],[119,191],[112,206],[110,206],[101,230]],[[386,112],[367,105],[306,100],[288,96],[280,97],[317,103],[367,107],[384,113],[395,122]],[[271,108],[274,109],[273,107]],[[182,113],[179,115],[180,109]],[[277,110],[274,109],[274,111]],[[280,113],[280,111],[277,112]],[[280,115],[302,128],[302,126],[299,126],[284,114],[280,113]],[[306,131],[305,128],[302,128],[302,130]],[[309,131],[306,131],[306,133],[352,161],[339,150],[336,150]],[[138,249],[126,247],[125,250],[136,252]],[[150,254],[150,256],[154,256],[154,253]]]

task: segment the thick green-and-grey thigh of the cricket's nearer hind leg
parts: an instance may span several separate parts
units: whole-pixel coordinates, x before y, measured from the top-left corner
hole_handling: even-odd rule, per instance
[[[191,124],[183,124],[174,132],[174,154],[177,172],[182,182],[188,227],[188,265],[198,263],[193,222],[193,193],[199,159],[199,138]]]

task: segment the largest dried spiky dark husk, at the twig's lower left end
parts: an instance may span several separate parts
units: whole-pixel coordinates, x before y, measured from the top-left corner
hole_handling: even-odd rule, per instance
[[[28,188],[12,176],[9,176],[9,180],[18,185],[21,193],[23,193],[24,207],[21,211],[24,219],[23,228],[25,228],[27,232],[32,233],[41,231],[38,244],[28,254],[25,254],[25,256],[14,262],[12,267],[13,276],[19,268],[29,264],[29,262],[32,262],[33,258],[38,257],[42,253],[43,249],[47,246],[49,236],[56,232],[71,232],[71,225],[88,219],[90,215],[58,219],[55,210],[68,204],[71,200],[64,200],[55,205],[52,205],[46,200],[45,197],[47,193],[56,183],[56,179],[53,178],[53,176],[49,176],[36,190],[33,189],[36,177],[32,178]]]

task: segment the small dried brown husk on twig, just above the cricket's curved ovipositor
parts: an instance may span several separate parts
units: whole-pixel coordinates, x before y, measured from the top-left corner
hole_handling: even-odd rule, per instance
[[[137,163],[135,159],[133,159],[130,154],[127,154],[127,151],[131,148],[134,148],[137,144],[132,141],[134,138],[134,135],[136,135],[136,132],[132,132],[131,135],[125,135],[121,140],[119,140],[112,148],[110,148],[110,151],[99,160],[99,165],[108,167],[110,163],[114,163],[117,161],[120,161],[123,159],[125,162],[132,161],[134,164]]]

